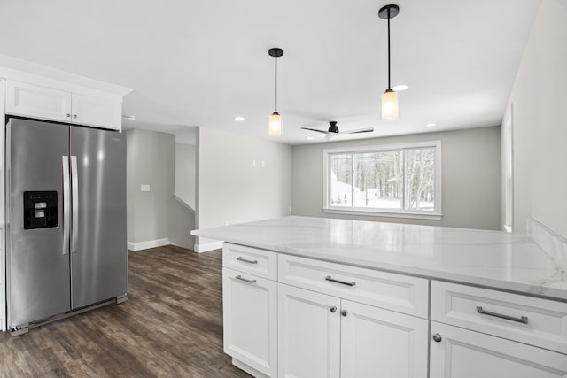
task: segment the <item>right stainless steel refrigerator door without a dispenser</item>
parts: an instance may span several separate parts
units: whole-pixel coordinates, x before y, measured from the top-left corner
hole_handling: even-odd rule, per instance
[[[71,127],[71,175],[77,194],[71,253],[73,309],[128,291],[126,135]],[[74,238],[72,238],[74,239]],[[76,252],[75,252],[76,251]]]

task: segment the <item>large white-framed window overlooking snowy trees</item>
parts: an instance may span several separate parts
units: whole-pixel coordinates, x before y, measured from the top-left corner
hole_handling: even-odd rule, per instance
[[[324,150],[324,212],[441,218],[441,142]]]

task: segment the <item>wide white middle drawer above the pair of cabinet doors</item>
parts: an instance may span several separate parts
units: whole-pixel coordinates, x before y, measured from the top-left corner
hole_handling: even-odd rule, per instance
[[[427,319],[423,278],[280,254],[278,282]]]

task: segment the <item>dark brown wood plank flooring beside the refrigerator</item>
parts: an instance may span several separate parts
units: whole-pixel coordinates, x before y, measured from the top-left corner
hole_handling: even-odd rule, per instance
[[[128,301],[0,335],[1,377],[249,377],[222,352],[221,251],[128,251]]]

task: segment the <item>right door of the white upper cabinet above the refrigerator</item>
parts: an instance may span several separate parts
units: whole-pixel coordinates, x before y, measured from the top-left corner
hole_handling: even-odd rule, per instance
[[[122,127],[122,103],[113,97],[93,97],[74,93],[73,122],[82,125],[113,128]]]

